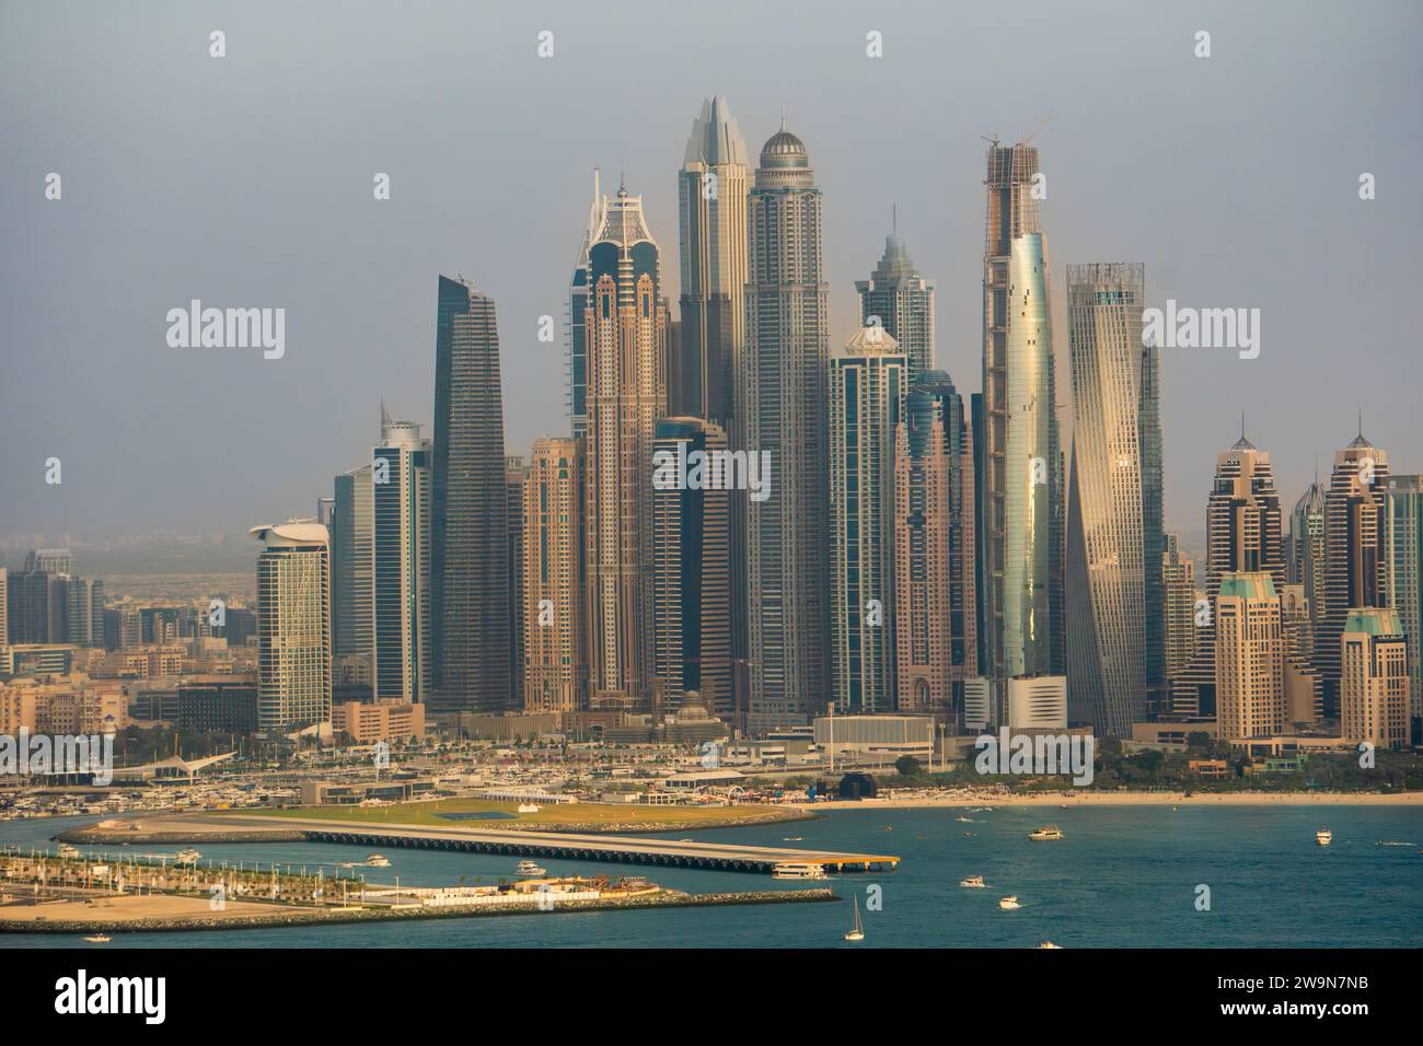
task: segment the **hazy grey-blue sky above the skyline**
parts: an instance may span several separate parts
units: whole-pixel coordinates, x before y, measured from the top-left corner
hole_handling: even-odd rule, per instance
[[[380,397],[431,434],[441,272],[497,300],[509,451],[564,433],[562,339],[538,342],[538,317],[562,320],[592,168],[645,196],[676,315],[676,172],[713,93],[753,157],[783,100],[807,144],[832,350],[896,202],[938,282],[938,363],[979,389],[980,135],[1050,117],[1036,144],[1064,411],[1069,262],[1144,262],[1155,305],[1261,309],[1255,360],[1164,352],[1168,527],[1201,529],[1242,408],[1286,504],[1360,406],[1393,470],[1420,471],[1420,10],[3,3],[0,539],[312,514],[369,458]],[[285,307],[285,357],[169,349],[165,315],[194,297]]]

